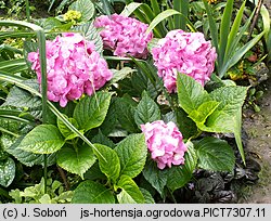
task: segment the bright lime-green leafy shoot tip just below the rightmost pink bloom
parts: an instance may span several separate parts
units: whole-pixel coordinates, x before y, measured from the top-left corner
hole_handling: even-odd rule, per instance
[[[193,78],[179,74],[177,89],[180,106],[195,121],[198,129],[207,132],[234,132],[245,162],[242,142],[240,142],[241,117],[238,113],[245,101],[247,88],[225,86],[208,93]]]

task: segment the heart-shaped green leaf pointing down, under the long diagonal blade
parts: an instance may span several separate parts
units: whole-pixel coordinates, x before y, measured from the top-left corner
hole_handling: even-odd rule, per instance
[[[79,174],[83,179],[83,173],[95,162],[93,151],[88,145],[64,146],[56,155],[56,162],[63,169]]]

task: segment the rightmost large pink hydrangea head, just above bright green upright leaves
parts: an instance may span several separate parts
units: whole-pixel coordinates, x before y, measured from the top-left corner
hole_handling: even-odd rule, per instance
[[[202,32],[171,30],[152,50],[158,76],[167,90],[177,91],[177,73],[193,77],[202,86],[209,80],[217,58],[216,49],[206,41]]]

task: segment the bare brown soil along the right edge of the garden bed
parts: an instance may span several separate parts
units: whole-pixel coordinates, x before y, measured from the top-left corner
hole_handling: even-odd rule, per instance
[[[264,0],[271,14],[271,1]],[[261,166],[256,184],[241,188],[238,203],[271,204],[271,69],[269,79],[262,83],[263,98],[259,101],[261,110],[244,110],[243,127],[248,135],[246,155]]]

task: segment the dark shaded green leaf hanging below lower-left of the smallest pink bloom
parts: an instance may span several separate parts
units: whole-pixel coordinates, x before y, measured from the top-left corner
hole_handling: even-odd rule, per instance
[[[142,172],[146,181],[151,183],[163,197],[164,187],[167,184],[167,171],[158,169],[157,164],[154,160],[149,159]]]

